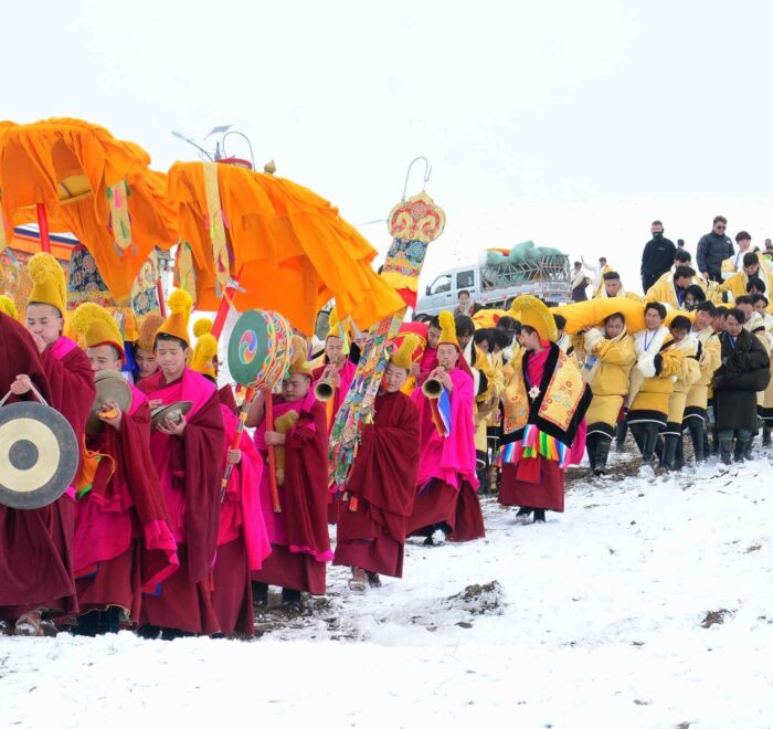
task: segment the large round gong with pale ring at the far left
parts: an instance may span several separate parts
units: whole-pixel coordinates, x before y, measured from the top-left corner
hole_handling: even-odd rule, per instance
[[[64,416],[39,402],[0,408],[0,504],[39,509],[73,483],[78,443]]]

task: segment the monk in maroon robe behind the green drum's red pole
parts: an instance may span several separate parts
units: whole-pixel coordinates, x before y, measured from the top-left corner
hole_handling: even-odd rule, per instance
[[[268,528],[272,553],[263,568],[252,573],[253,594],[268,603],[268,585],[282,588],[282,603],[299,611],[303,592],[325,594],[326,562],[332,559],[327,528],[327,427],[325,405],[311,388],[311,367],[306,342],[295,338],[295,356],[282,394],[261,391],[253,401],[247,427],[255,427],[255,445],[263,456],[261,504]],[[265,419],[265,398],[274,399],[274,427]],[[277,452],[278,496],[282,511],[272,504],[268,446]],[[280,472],[280,473],[278,473]]]

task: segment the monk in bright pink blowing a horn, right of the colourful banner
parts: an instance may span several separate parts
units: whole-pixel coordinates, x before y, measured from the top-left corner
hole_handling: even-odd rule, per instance
[[[419,408],[421,455],[419,490],[405,530],[407,536],[426,537],[425,545],[434,545],[438,531],[454,541],[486,535],[476,494],[473,376],[456,339],[453,315],[441,313],[440,325],[438,367],[431,373],[441,384],[440,397],[431,400],[422,390],[411,395]]]

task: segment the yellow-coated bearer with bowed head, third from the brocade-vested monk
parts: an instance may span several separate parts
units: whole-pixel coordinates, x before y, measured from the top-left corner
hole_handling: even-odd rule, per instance
[[[682,442],[681,421],[685,416],[687,394],[700,379],[699,345],[698,339],[690,336],[691,326],[686,316],[676,317],[669,329],[670,340],[660,349],[661,353],[673,352],[680,357],[680,361],[675,362],[671,369],[674,387],[668,398],[668,413],[660,448],[660,465],[669,471],[684,465],[684,453],[681,459],[677,458],[679,444]]]

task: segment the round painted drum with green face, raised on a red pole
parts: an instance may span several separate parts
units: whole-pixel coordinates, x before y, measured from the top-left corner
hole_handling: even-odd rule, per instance
[[[229,370],[239,384],[274,387],[292,358],[293,329],[280,314],[250,309],[239,317],[229,340]]]

